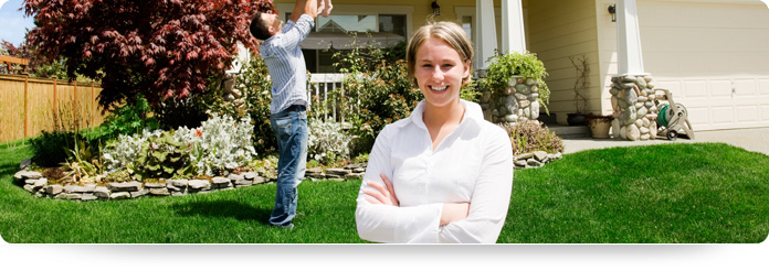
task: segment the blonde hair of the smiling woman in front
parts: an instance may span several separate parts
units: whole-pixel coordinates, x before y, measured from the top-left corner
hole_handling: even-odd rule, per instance
[[[453,47],[454,51],[460,54],[460,58],[467,65],[467,68],[471,72],[473,71],[472,59],[475,56],[475,51],[473,50],[473,42],[470,41],[464,29],[453,22],[430,22],[414,32],[409,41],[409,45],[405,47],[405,65],[409,72],[409,79],[411,79],[414,86],[418,86],[417,78],[414,77],[417,50],[430,37],[435,37],[447,43],[449,46]],[[462,86],[470,83],[470,74],[465,78],[462,78]]]

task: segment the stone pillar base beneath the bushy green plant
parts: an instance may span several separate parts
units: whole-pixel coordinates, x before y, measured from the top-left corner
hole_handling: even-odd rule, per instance
[[[539,88],[534,78],[514,77],[503,94],[486,89],[481,97],[481,108],[486,120],[493,123],[513,123],[539,118]]]

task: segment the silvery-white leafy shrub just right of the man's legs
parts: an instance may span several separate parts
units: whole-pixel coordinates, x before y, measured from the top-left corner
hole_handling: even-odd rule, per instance
[[[340,123],[312,119],[307,154],[322,164],[333,164],[350,158],[351,140],[350,136],[345,134]]]

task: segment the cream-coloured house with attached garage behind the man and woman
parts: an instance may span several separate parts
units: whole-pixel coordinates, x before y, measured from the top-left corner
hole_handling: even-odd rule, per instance
[[[282,15],[293,3],[275,0]],[[612,77],[643,73],[686,106],[695,130],[769,127],[769,8],[760,0],[334,0],[333,14],[319,17],[302,45],[308,69],[334,73],[324,50],[349,46],[341,30],[391,45],[429,18],[468,32],[476,68],[495,48],[536,53],[558,123],[575,111],[569,56],[584,55],[589,112],[612,112]]]

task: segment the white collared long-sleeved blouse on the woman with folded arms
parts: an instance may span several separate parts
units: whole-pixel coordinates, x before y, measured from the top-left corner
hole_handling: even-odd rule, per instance
[[[461,101],[460,124],[432,150],[424,100],[377,136],[355,212],[360,238],[377,242],[496,242],[513,188],[513,147],[477,104]],[[371,204],[366,181],[392,181],[400,207]],[[467,218],[440,226],[444,203],[470,203]]]

